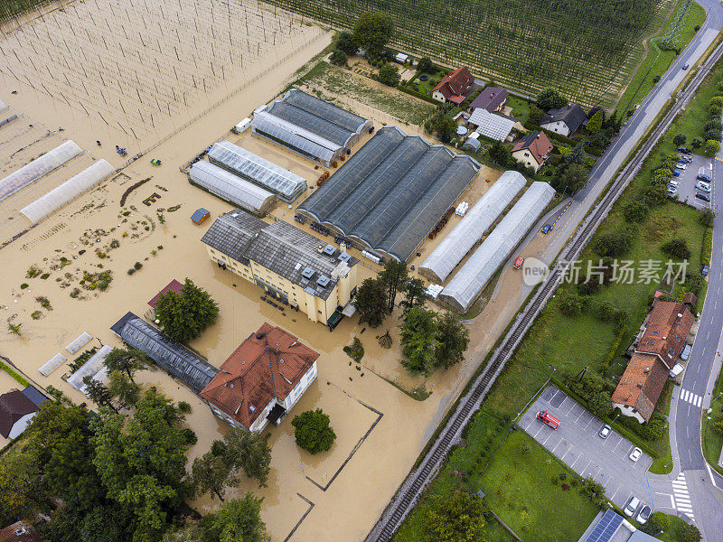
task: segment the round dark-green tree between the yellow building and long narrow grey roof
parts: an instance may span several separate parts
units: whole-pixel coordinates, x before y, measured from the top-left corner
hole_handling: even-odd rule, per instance
[[[155,316],[171,339],[188,342],[200,337],[207,327],[216,322],[219,305],[208,292],[186,278],[180,294],[168,292],[161,295],[155,306]]]

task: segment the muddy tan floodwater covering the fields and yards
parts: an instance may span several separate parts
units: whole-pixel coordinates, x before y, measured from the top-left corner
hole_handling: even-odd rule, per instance
[[[516,311],[519,275],[505,271],[500,279],[505,287],[498,288],[503,294],[494,295],[471,322],[467,359],[430,378],[412,377],[399,365],[399,312],[376,330],[352,317],[329,332],[303,313],[264,303],[257,286],[211,264],[200,239],[231,207],[193,187],[180,170],[208,145],[230,139],[305,176],[309,191],[295,205],[311,193],[324,168],[229,130],[277,97],[332,34],[263,4],[202,0],[64,2],[62,9],[20,23],[19,30],[6,28],[0,40],[0,99],[18,116],[0,127],[0,176],[67,139],[84,154],[0,202],[0,242],[24,231],[0,249],[0,354],[38,387],[52,385],[80,403],[86,398],[64,379],[78,354],[64,347],[82,332],[93,337],[85,348],[119,345],[111,324],[127,311],[146,316],[147,302],[164,285],[192,278],[221,307],[219,321],[192,348],[218,367],[262,322],[295,334],[321,354],[318,378],[295,413],[323,408],[337,435],[330,452],[312,456],[296,446],[293,416],[287,417],[265,431],[272,448],[268,487],[243,479],[227,496],[254,491],[264,497],[262,516],[278,542],[362,540]],[[372,119],[377,128],[389,120]],[[115,145],[126,146],[128,157],[152,150],[126,164],[128,157],[120,157]],[[34,228],[18,213],[99,158],[118,168],[107,181]],[[151,165],[151,159],[162,165]],[[461,200],[474,204],[498,176],[483,167]],[[197,226],[190,216],[200,207],[211,211],[211,220]],[[293,211],[277,204],[268,220],[294,223]],[[458,220],[453,217],[436,239],[427,240],[410,264],[418,266]],[[379,270],[352,252],[362,259],[362,277]],[[112,281],[100,291],[108,276]],[[8,332],[8,323],[19,324],[20,335]],[[393,341],[388,350],[377,340],[387,330]],[[343,352],[355,336],[365,349],[358,365]],[[38,369],[58,353],[68,361],[43,377]],[[146,371],[139,380],[191,403],[186,423],[199,440],[189,464],[228,430],[199,397],[163,371]],[[0,392],[18,387],[0,372]],[[431,395],[418,401],[403,391],[415,388]],[[207,497],[191,504],[205,512],[219,502]]]

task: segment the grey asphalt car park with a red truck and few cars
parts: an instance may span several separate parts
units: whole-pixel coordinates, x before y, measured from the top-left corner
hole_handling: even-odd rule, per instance
[[[547,410],[559,419],[557,431],[535,415]],[[611,432],[602,439],[603,422],[554,386],[549,386],[522,415],[520,427],[583,478],[591,476],[606,487],[607,497],[623,508],[631,496],[651,505],[645,472],[653,458],[643,453],[637,463],[629,459],[634,444]]]

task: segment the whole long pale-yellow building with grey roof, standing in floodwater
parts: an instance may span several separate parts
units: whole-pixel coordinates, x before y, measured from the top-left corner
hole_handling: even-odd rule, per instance
[[[201,240],[211,261],[331,329],[356,291],[358,259],[283,220],[268,224],[233,210]]]

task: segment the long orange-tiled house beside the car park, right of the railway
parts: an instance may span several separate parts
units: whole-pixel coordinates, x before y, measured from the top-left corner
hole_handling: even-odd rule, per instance
[[[686,304],[653,302],[653,311],[634,344],[634,353],[613,393],[613,406],[624,416],[647,422],[685,347],[695,318]]]

